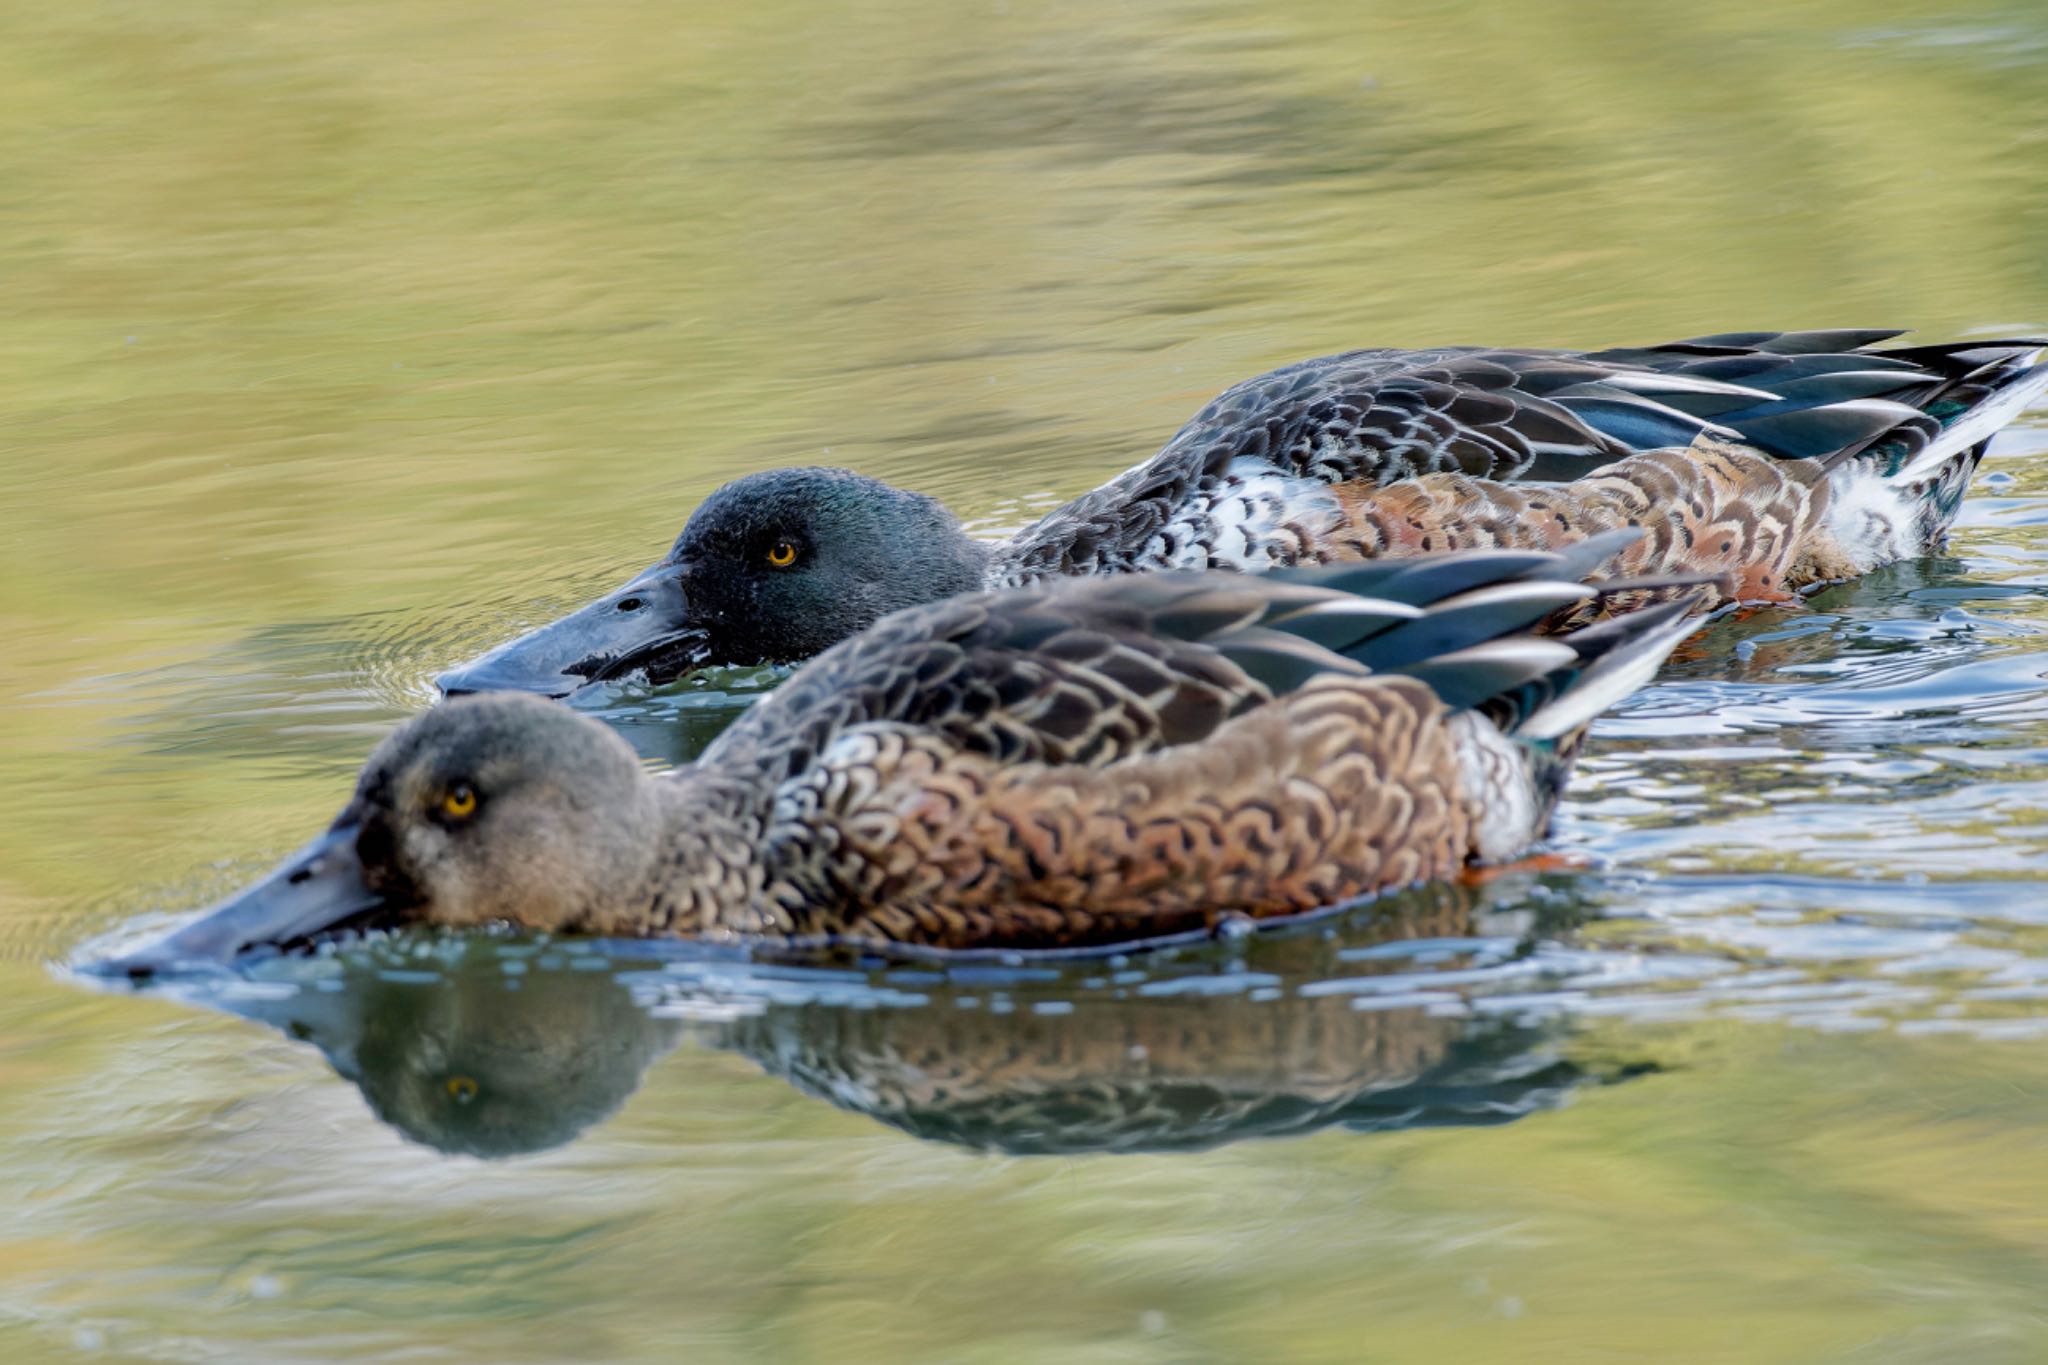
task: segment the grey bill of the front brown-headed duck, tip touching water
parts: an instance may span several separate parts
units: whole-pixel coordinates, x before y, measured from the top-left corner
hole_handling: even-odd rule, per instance
[[[260,950],[291,950],[354,929],[406,921],[406,905],[362,880],[356,825],[336,825],[248,890],[176,933],[90,964],[102,976],[170,976],[233,966]]]

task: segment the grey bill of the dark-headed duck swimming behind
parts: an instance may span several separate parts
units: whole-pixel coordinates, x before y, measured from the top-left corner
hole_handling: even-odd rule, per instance
[[[672,565],[655,565],[625,587],[539,630],[449,669],[434,679],[446,696],[539,692],[569,696],[612,677],[666,684],[711,663],[707,632]]]

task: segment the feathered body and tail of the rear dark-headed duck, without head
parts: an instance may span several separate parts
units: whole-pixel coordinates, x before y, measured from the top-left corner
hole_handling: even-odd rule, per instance
[[[1554,546],[1645,524],[1649,510],[1694,512],[1698,526],[1673,526],[1669,544],[1638,555],[1632,571],[1729,571],[1763,557],[1774,563],[1755,577],[1782,585],[1815,557],[1802,538],[1829,514],[1812,485],[1847,460],[1886,477],[1942,448],[1946,430],[2025,381],[2038,346],[1868,350],[1892,336],[1757,332],[1602,352],[1354,350],[1305,360],[1225,391],[1157,456],[1024,530],[995,555],[989,581]],[[2015,409],[2001,407],[1999,422]],[[1901,534],[1886,538],[1886,557],[1939,536],[1980,448],[1982,434],[1954,442],[1939,481],[1892,495]],[[1665,458],[1624,465],[1647,452]],[[1632,487],[1577,499],[1575,481],[1593,473]],[[1393,483],[1405,497],[1386,501],[1378,491]],[[1538,493],[1530,508],[1501,493],[1528,483],[1573,495]],[[1679,553],[1694,532],[1731,518],[1751,534],[1726,555],[1694,563]]]

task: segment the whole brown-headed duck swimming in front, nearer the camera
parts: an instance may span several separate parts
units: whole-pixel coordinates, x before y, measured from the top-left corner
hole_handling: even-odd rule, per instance
[[[1499,864],[1692,593],[1554,636],[1563,553],[1055,579],[907,608],[649,776],[578,708],[453,698],[256,886],[100,964],[147,978],[395,925],[1073,950],[1303,915]],[[1675,593],[1675,596],[1673,596]]]

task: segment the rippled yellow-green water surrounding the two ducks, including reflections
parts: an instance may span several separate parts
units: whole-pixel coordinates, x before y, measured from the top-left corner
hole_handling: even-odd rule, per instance
[[[1606,718],[1559,870],[61,970],[748,469],[997,530],[1346,346],[2048,329],[2036,6],[16,6],[0,90],[0,1359],[2048,1353],[2042,411]]]

